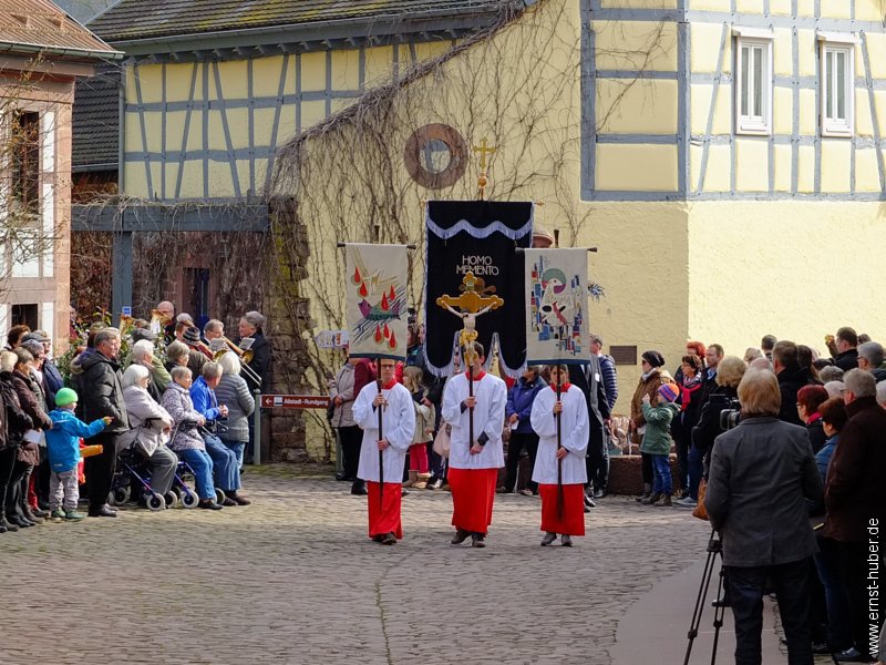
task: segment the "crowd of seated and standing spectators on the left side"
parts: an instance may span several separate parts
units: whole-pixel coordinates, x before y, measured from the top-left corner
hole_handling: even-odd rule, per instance
[[[240,320],[240,337],[255,355],[246,370],[238,354],[210,349],[208,341],[224,336],[222,321],[208,321],[205,338],[187,314],[168,323],[152,330],[147,320],[128,321],[125,357],[121,330],[93,325],[68,377],[47,332],[23,325],[9,330],[0,354],[0,533],[47,520],[116,518],[110,499],[124,473],[117,464],[124,450],[136,456],[156,495],[168,495],[182,470],[193,473],[200,508],[250,503],[240,474],[253,389],[264,382],[270,358],[265,319],[253,311]],[[145,505],[150,495],[138,483],[122,484]]]

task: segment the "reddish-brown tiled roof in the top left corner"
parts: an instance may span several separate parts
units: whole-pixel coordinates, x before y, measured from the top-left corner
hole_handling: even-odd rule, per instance
[[[122,55],[49,0],[0,0],[0,51],[76,59]]]

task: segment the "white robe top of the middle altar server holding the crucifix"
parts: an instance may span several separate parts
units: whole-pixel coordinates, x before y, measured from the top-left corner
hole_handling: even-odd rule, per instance
[[[467,377],[464,372],[446,381],[443,391],[443,406],[441,413],[443,420],[452,426],[450,443],[450,467],[453,469],[498,469],[505,466],[505,456],[502,449],[502,430],[505,423],[505,403],[507,402],[507,388],[498,377],[484,375],[474,380],[474,441],[482,432],[486,432],[488,440],[483,450],[471,454],[468,442],[468,413],[470,409],[462,411],[462,402],[467,399]]]

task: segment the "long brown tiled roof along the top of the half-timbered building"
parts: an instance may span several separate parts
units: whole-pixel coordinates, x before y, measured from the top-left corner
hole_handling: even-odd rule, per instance
[[[512,0],[120,0],[90,22],[111,43],[329,22],[495,12]]]

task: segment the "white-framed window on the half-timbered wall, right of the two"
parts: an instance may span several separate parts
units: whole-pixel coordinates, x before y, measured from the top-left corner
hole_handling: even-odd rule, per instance
[[[853,135],[856,40],[853,34],[818,33],[823,136]]]

